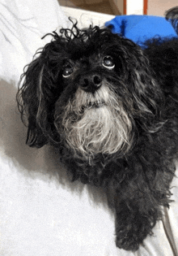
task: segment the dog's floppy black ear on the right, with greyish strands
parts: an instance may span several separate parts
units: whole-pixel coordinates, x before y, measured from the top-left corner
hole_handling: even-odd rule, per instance
[[[131,96],[125,101],[127,104],[125,107],[129,106],[129,109],[133,109],[132,115],[139,127],[147,132],[156,132],[163,125],[162,89],[145,51],[133,41],[125,39],[123,42],[122,76],[127,85],[128,95]]]

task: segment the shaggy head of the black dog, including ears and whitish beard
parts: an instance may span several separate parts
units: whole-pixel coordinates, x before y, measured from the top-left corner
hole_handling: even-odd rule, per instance
[[[74,157],[126,154],[154,132],[161,92],[142,49],[108,28],[61,29],[24,72],[17,95],[27,143],[49,141]]]

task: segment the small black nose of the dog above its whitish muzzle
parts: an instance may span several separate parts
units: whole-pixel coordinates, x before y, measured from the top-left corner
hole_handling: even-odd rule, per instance
[[[82,76],[79,80],[80,87],[86,92],[95,92],[102,84],[102,78],[99,74]]]

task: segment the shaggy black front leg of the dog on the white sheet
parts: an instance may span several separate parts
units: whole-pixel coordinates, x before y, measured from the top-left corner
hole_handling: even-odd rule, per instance
[[[135,251],[147,235],[153,234],[152,229],[162,217],[160,206],[168,206],[171,201],[169,184],[175,166],[167,160],[156,172],[154,163],[149,169],[143,168],[137,157],[132,165],[132,171],[125,168],[112,177],[108,201],[116,210],[117,247]]]

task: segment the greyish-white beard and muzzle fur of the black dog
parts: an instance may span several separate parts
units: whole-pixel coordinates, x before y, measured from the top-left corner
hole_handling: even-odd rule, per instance
[[[103,86],[95,96],[82,90],[75,95],[62,117],[65,141],[74,154],[87,159],[121,150],[125,154],[131,142],[132,125],[115,93]],[[83,106],[88,107],[83,111]]]

